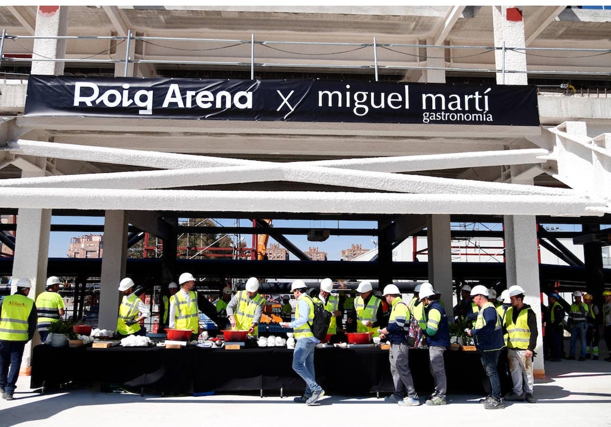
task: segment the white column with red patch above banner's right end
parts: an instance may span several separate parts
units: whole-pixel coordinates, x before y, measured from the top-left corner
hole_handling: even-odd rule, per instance
[[[494,46],[500,48],[505,42],[506,48],[524,48],[524,20],[522,10],[518,7],[492,6],[492,24],[494,26]],[[497,70],[503,69],[503,51],[498,49],[494,59]],[[528,82],[526,73],[508,73],[507,71],[526,71],[524,51],[505,50],[505,75],[497,73],[497,84],[525,85]]]

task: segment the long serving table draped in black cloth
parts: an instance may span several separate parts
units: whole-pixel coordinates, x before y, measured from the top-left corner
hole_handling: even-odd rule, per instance
[[[501,357],[505,360],[505,356]],[[68,382],[114,384],[162,393],[278,390],[302,392],[305,383],[291,368],[293,350],[280,347],[79,348],[38,345],[32,352],[31,387],[54,388]],[[393,391],[388,351],[373,347],[321,348],[314,356],[316,381],[329,393],[368,395]],[[410,350],[414,384],[424,395],[433,390],[428,350]],[[446,351],[448,393],[489,392],[488,379],[474,351]],[[510,387],[499,370],[504,390]]]

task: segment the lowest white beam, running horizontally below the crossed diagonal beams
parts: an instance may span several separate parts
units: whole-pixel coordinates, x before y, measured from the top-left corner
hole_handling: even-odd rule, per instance
[[[483,215],[593,216],[609,212],[597,199],[579,196],[251,192],[0,188],[3,207],[292,213],[464,213]],[[323,210],[318,209],[324,206]]]

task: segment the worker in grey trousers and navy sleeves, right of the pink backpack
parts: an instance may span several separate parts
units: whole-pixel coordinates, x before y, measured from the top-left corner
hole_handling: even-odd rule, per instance
[[[445,377],[444,352],[450,346],[450,328],[444,307],[433,286],[426,282],[420,288],[420,300],[424,306],[426,318],[426,343],[428,343],[428,360],[435,392],[426,400],[428,406],[445,405],[447,379]]]

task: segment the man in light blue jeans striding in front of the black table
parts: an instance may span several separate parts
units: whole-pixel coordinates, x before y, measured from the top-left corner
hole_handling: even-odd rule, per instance
[[[320,342],[310,329],[314,320],[314,303],[312,298],[307,296],[307,286],[302,280],[298,279],[291,284],[291,292],[297,300],[295,320],[283,321],[280,326],[293,328],[297,340],[293,352],[293,370],[305,381],[305,393],[301,397],[296,397],[295,402],[312,405],[324,396],[323,387],[316,384],[314,373],[314,348]]]

